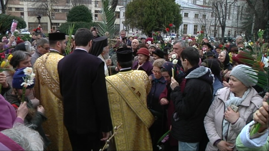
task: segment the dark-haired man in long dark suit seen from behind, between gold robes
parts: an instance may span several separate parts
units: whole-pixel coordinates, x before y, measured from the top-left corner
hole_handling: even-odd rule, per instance
[[[93,34],[80,28],[75,34],[76,49],[58,63],[63,96],[64,124],[73,150],[100,150],[112,130],[104,62],[89,54]]]

